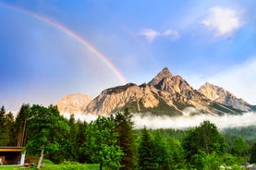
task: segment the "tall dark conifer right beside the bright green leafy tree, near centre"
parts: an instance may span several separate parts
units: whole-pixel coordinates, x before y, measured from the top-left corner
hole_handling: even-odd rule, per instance
[[[120,169],[131,170],[134,169],[134,136],[133,136],[133,122],[132,115],[125,109],[124,113],[118,112],[114,118],[116,131],[118,133],[117,143],[124,152],[120,164]]]

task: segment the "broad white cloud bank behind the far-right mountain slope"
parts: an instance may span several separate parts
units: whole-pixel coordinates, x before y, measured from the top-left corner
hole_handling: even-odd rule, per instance
[[[256,57],[238,66],[228,67],[207,81],[225,88],[238,98],[256,104]]]

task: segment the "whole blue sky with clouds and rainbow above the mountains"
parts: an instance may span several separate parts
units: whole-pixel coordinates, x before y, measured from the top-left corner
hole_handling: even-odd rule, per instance
[[[0,0],[0,105],[150,81],[164,67],[256,104],[254,0]]]

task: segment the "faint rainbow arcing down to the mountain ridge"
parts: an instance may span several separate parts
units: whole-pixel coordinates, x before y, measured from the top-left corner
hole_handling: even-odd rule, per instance
[[[0,6],[10,7],[12,9],[15,9],[18,12],[29,15],[32,18],[36,18],[38,20],[41,20],[44,23],[47,23],[47,24],[55,27],[55,29],[57,29],[57,30],[61,30],[62,32],[67,34],[69,37],[73,38],[74,40],[76,40],[77,42],[79,42],[83,46],[85,46],[88,50],[90,50],[92,52],[92,54],[94,54],[95,56],[100,58],[104,62],[105,66],[109,67],[113,71],[113,73],[116,75],[116,77],[122,83],[127,83],[128,82],[127,79],[122,75],[122,73],[117,69],[117,67],[113,63],[111,63],[111,61],[104,54],[102,54],[96,47],[91,45],[91,43],[84,40],[78,33],[74,32],[72,30],[69,30],[67,27],[58,23],[57,21],[55,21],[52,18],[45,18],[45,17],[43,17],[43,16],[41,16],[37,13],[28,11],[24,8],[21,8],[21,7],[18,7],[18,6],[12,6],[12,5],[9,5],[9,4],[6,4],[6,3],[2,3],[2,2],[0,2]]]

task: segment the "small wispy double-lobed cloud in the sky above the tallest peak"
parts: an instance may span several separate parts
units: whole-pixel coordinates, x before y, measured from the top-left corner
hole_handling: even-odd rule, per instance
[[[144,36],[150,43],[157,37],[168,37],[172,41],[176,41],[179,38],[177,30],[165,30],[161,32],[153,29],[143,29],[140,31],[140,35]]]

